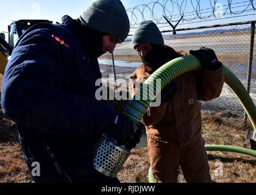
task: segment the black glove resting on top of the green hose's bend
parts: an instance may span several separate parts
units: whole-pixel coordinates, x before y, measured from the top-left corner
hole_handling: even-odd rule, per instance
[[[218,61],[215,52],[212,49],[202,47],[199,50],[191,50],[191,55],[194,55],[209,71],[216,71],[221,68],[222,63]]]

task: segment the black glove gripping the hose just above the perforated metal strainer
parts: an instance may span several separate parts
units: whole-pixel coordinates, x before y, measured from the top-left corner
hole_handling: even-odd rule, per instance
[[[138,129],[138,124],[124,115],[116,116],[113,121],[113,127],[105,130],[107,135],[117,141],[118,146],[124,146],[132,138],[135,130]]]

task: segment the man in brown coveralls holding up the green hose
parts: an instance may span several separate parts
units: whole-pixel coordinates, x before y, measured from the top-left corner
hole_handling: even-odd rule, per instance
[[[152,21],[144,21],[133,34],[133,46],[142,63],[132,74],[130,94],[160,66],[185,52],[165,46],[162,34]],[[179,166],[187,182],[211,182],[208,157],[202,138],[198,101],[218,98],[224,84],[222,63],[212,49],[190,51],[204,69],[174,79],[162,90],[162,104],[144,115],[152,173],[158,183],[177,182]]]

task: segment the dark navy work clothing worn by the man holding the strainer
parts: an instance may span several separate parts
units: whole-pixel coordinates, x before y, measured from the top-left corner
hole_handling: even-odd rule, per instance
[[[104,182],[86,151],[117,113],[96,100],[98,60],[85,54],[73,19],[62,20],[37,24],[20,38],[5,70],[2,109],[18,126],[30,174],[40,163],[34,180]]]

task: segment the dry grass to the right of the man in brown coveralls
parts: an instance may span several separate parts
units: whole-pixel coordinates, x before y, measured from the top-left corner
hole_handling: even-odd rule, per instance
[[[231,113],[232,114],[232,113]],[[229,117],[227,117],[229,116]],[[246,140],[251,124],[243,125],[243,119],[230,112],[203,113],[203,137],[206,144],[231,145],[250,148]],[[208,152],[212,179],[216,182],[255,183],[256,159],[230,152]],[[223,163],[223,176],[215,176],[215,163]]]

